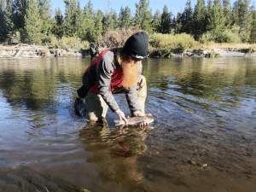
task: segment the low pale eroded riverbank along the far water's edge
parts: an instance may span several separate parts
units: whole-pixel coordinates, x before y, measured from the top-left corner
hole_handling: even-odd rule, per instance
[[[104,48],[100,48],[100,52]],[[165,54],[160,49],[149,49],[149,57],[256,57],[250,49],[218,48],[218,49],[173,49]],[[90,57],[90,49],[53,49],[42,45],[18,44],[0,46],[0,58],[29,57]]]

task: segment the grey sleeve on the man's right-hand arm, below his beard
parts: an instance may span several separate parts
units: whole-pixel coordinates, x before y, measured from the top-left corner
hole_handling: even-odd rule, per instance
[[[139,67],[139,70],[138,70],[138,77],[141,75],[143,71],[143,65],[142,64],[140,65],[141,66]],[[131,113],[141,110],[137,102],[137,84],[134,87],[125,89],[125,96],[126,96],[128,106],[131,110]]]

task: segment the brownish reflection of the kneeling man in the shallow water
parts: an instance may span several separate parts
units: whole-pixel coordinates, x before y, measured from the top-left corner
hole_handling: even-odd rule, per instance
[[[107,119],[89,123],[79,133],[84,150],[92,152],[86,161],[100,166],[99,176],[106,185],[121,185],[128,191],[147,191],[137,168],[137,156],[147,150],[148,133],[139,127],[116,127],[110,131]]]

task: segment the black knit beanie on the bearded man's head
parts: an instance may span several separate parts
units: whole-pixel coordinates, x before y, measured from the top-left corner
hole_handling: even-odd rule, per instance
[[[148,34],[137,32],[128,38],[123,47],[126,55],[131,55],[136,60],[143,60],[148,55]]]

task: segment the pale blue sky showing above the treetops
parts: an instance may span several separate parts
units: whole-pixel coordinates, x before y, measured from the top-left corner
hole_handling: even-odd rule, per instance
[[[236,0],[230,0],[231,6]],[[84,9],[84,6],[89,2],[89,0],[80,0],[81,9]],[[108,0],[90,0],[94,10],[101,9],[103,13],[108,10]],[[119,15],[121,6],[125,8],[128,6],[131,9],[131,12],[135,13],[136,7],[135,3],[139,3],[139,0],[109,0],[109,3]],[[65,3],[63,0],[51,0],[52,9],[55,11],[55,8],[60,7],[62,15],[65,15]],[[155,14],[157,9],[162,13],[165,4],[167,5],[168,11],[172,12],[174,16],[177,16],[177,12],[183,11],[186,6],[187,0],[149,0],[149,8],[152,9],[152,15]],[[191,6],[194,9],[197,0],[191,0]],[[205,0],[207,5],[207,0]]]

